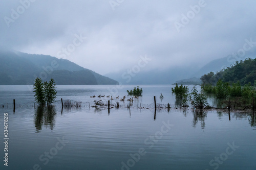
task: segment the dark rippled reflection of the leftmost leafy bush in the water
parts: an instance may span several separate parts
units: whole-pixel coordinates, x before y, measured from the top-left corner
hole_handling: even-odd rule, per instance
[[[40,133],[42,126],[53,130],[55,126],[56,110],[54,106],[38,106],[35,110],[35,128],[36,133]]]

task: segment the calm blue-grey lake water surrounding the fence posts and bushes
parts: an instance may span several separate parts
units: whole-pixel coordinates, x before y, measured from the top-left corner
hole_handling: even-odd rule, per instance
[[[33,107],[31,86],[0,86],[1,137],[5,141],[8,113],[9,138],[8,152],[1,144],[1,169],[256,169],[256,119],[250,111],[183,109],[175,106],[174,85],[139,87],[143,96],[130,110],[126,90],[133,85],[57,86],[56,106],[48,109]],[[92,107],[94,100],[108,102],[106,95],[122,107]],[[171,104],[169,112],[152,109],[154,96],[158,104]],[[84,105],[61,109],[61,98]]]

